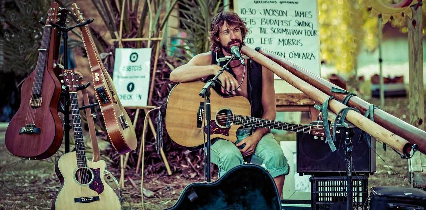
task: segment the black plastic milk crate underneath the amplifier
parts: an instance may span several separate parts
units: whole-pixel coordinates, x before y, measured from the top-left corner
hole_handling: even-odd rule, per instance
[[[312,176],[312,210],[346,209],[346,176]],[[368,197],[368,176],[352,176],[354,208],[362,209]]]

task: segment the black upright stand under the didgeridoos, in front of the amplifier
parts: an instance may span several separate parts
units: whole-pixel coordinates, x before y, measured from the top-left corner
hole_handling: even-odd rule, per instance
[[[345,153],[346,153],[346,209],[354,209],[352,201],[353,189],[352,189],[352,137],[354,136],[354,129],[346,131],[345,139]]]

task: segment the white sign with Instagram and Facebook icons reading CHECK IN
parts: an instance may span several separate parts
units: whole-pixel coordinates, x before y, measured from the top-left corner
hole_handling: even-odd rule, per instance
[[[150,85],[151,48],[116,48],[113,81],[121,104],[146,106]]]

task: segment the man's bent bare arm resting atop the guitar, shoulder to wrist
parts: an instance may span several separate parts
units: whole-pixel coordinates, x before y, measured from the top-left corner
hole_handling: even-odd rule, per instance
[[[187,64],[181,65],[170,73],[170,81],[190,82],[216,74],[218,66],[211,65],[211,54],[202,53],[194,56]]]

